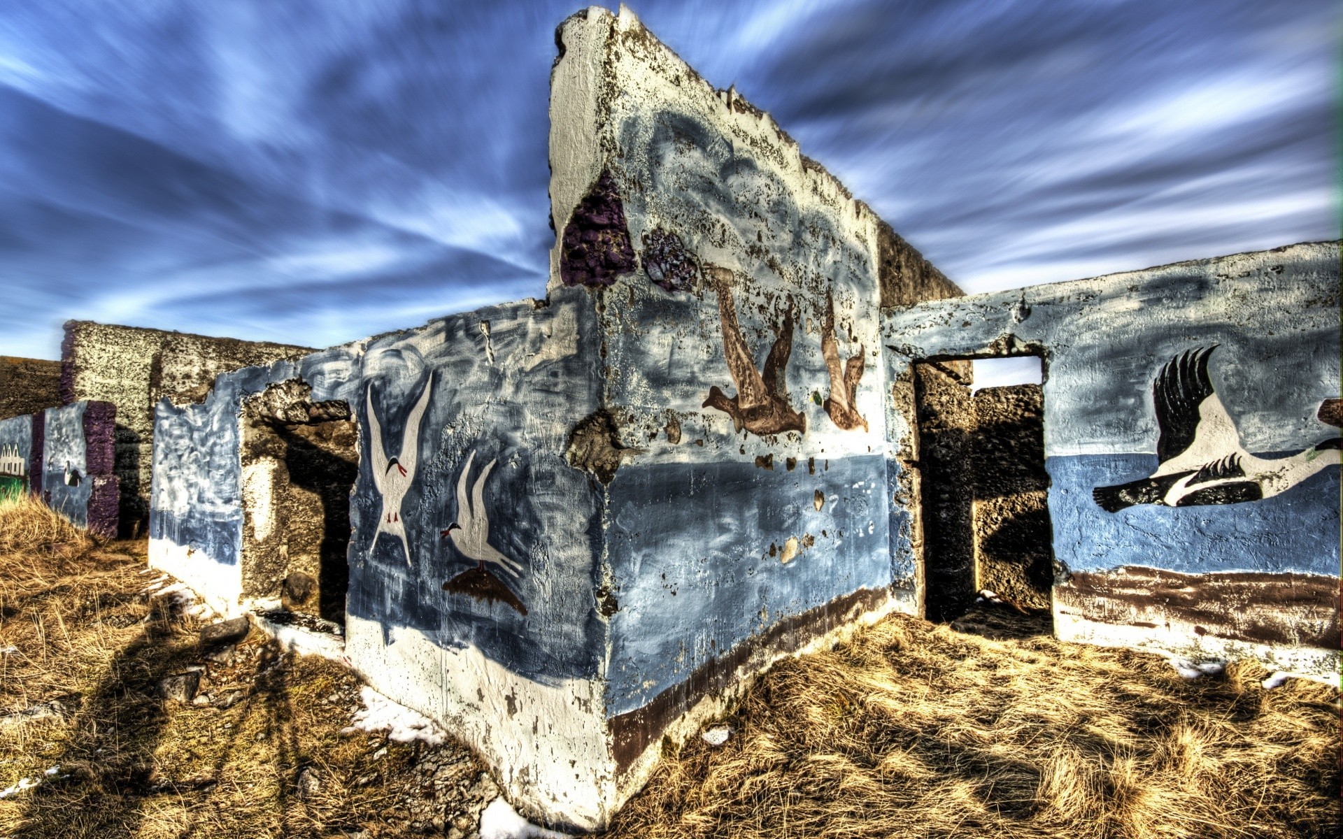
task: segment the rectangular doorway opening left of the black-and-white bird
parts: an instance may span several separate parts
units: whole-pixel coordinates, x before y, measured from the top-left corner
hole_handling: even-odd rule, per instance
[[[1041,358],[915,364],[924,607],[1049,622],[1054,581]]]

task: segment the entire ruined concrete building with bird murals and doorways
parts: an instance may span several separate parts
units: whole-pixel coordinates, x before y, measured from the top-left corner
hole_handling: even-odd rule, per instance
[[[1336,678],[1338,243],[964,297],[629,11],[557,43],[544,301],[212,388],[165,349],[122,401],[68,333],[126,446],[154,404],[156,568],[342,623],[373,687],[579,828],[780,656],[983,589],[1065,639]],[[1044,385],[972,393],[1003,356]]]

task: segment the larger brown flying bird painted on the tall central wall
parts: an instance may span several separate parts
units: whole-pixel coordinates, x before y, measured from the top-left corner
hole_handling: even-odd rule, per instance
[[[732,381],[737,385],[737,395],[729,399],[719,389],[719,385],[713,385],[701,407],[723,411],[732,417],[732,424],[737,431],[745,428],[759,436],[784,431],[804,434],[807,417],[800,411],[794,411],[792,405],[788,404],[786,375],[788,356],[792,354],[792,298],[788,298],[788,307],[783,313],[783,322],[776,330],[778,337],[774,346],[770,348],[761,372],[756,369],[755,356],[741,337],[737,309],[732,302],[732,271],[719,266],[705,266],[705,273],[719,295],[723,354],[728,361]]]

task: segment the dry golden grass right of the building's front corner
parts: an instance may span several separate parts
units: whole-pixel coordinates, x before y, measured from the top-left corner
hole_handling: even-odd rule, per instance
[[[1185,681],[998,608],[966,631],[896,616],[779,664],[727,745],[669,757],[612,835],[1343,835],[1338,690],[1264,690],[1250,663]]]

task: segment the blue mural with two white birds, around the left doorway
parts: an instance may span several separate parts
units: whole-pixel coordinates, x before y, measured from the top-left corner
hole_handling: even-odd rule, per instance
[[[302,380],[312,401],[365,417],[349,616],[388,639],[418,630],[445,650],[479,650],[529,679],[596,673],[599,507],[564,459],[573,423],[596,408],[592,322],[586,290],[559,291],[227,373],[203,403],[160,403],[157,550],[236,569],[242,403]]]

